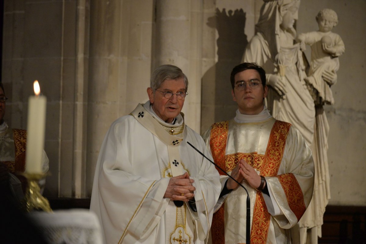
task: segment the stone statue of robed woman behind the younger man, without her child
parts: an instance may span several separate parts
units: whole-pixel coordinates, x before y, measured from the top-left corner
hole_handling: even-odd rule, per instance
[[[256,62],[262,66],[270,86],[267,107],[274,118],[290,122],[303,135],[314,157],[315,181],[313,199],[299,221],[300,230],[292,230],[294,243],[318,243],[325,206],[330,198],[328,172],[329,126],[314,85],[305,73],[305,55],[295,43],[295,20],[300,0],[264,0],[255,35],[248,43],[242,62]],[[333,33],[332,33],[333,34]],[[332,37],[330,37],[332,38]],[[329,38],[324,38],[328,43]],[[328,40],[327,40],[328,39]],[[302,45],[301,45],[302,44]],[[324,45],[327,53],[335,53],[335,45]],[[330,54],[332,55],[332,54]],[[334,58],[333,58],[334,59]],[[329,61],[334,61],[329,57]],[[337,80],[336,65],[327,64],[319,71],[326,84]],[[316,104],[316,106],[315,106]],[[300,240],[298,240],[298,238]]]

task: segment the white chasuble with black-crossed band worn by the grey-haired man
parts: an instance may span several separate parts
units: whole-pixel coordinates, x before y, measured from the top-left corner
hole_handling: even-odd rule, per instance
[[[106,243],[204,243],[220,194],[214,166],[187,144],[205,149],[184,125],[171,125],[139,104],[113,122],[98,157],[91,211],[100,218]],[[164,198],[169,178],[188,172],[194,179],[197,212]]]

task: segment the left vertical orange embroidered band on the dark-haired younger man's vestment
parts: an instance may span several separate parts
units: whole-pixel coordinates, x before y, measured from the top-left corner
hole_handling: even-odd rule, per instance
[[[213,160],[220,168],[226,170],[225,150],[228,137],[229,121],[214,123],[210,134],[210,148]],[[220,169],[216,168],[220,175],[224,175]],[[216,213],[213,214],[211,225],[212,244],[225,243],[225,226],[224,226],[224,204]]]

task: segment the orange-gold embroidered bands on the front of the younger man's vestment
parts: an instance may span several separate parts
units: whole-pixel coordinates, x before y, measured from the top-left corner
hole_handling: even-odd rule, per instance
[[[216,123],[212,126],[210,134],[210,147],[212,156],[217,165],[231,171],[241,159],[245,159],[253,168],[261,171],[263,176],[276,176],[280,168],[285,142],[291,124],[276,121],[272,127],[265,155],[253,153],[235,153],[226,155],[228,134],[228,121]],[[220,172],[220,175],[224,173]],[[253,209],[253,222],[250,233],[251,243],[265,244],[269,230],[270,214],[268,213],[263,195],[257,192]],[[224,205],[214,213],[212,220],[212,243],[224,244]]]

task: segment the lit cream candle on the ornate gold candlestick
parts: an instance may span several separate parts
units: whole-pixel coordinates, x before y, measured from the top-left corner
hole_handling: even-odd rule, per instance
[[[34,81],[34,94],[28,100],[26,168],[29,174],[42,173],[42,155],[45,141],[46,102],[40,95],[40,85]]]

